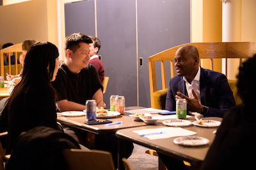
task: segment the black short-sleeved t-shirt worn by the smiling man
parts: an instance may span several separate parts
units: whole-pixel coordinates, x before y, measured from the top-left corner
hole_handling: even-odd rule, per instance
[[[85,104],[102,88],[95,66],[88,66],[79,73],[72,73],[67,65],[61,65],[52,86],[60,95],[59,100],[68,100],[78,104]]]

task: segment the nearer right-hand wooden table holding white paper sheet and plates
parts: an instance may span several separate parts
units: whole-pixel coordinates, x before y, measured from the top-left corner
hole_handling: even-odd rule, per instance
[[[189,121],[195,121],[194,117],[186,118]],[[218,120],[222,121],[222,118],[203,118],[203,120]],[[125,141],[131,141],[132,143],[140,144],[141,146],[145,146],[147,148],[151,148],[153,150],[159,151],[160,153],[164,153],[173,158],[177,158],[180,160],[186,160],[191,163],[193,167],[200,167],[204,158],[209,150],[212,141],[214,140],[216,130],[218,127],[197,127],[195,125],[189,125],[187,127],[182,127],[186,130],[191,130],[196,132],[193,136],[204,137],[209,139],[209,144],[204,146],[180,146],[179,144],[175,144],[173,139],[176,137],[169,137],[166,139],[154,139],[150,140],[146,137],[140,136],[133,132],[134,130],[145,130],[149,128],[162,128],[167,127],[163,125],[163,123],[157,123],[155,125],[148,125],[143,127],[134,127],[134,128],[125,128],[122,130],[118,130],[116,132],[116,136],[118,139],[118,163],[122,164],[122,158],[124,157],[125,151]],[[120,166],[120,169],[123,167]]]

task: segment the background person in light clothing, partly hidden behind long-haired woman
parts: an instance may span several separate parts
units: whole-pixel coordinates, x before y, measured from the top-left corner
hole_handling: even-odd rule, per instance
[[[9,93],[12,94],[13,89],[15,88],[15,86],[20,82],[21,76],[22,76],[22,72],[23,72],[23,66],[24,66],[24,59],[26,57],[26,54],[28,52],[28,50],[30,49],[30,47],[35,43],[35,40],[32,39],[27,39],[24,40],[24,42],[22,43],[22,54],[20,54],[20,63],[22,65],[22,70],[20,70],[20,73],[18,75],[7,75],[6,78],[8,81],[11,81],[9,84]]]

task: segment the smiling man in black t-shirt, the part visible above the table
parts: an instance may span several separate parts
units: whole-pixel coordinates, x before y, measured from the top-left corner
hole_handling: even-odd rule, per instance
[[[58,92],[57,108],[63,111],[83,111],[88,99],[96,100],[97,107],[103,102],[102,85],[94,66],[88,64],[92,40],[81,33],[66,38],[65,64],[58,70],[52,86]]]

